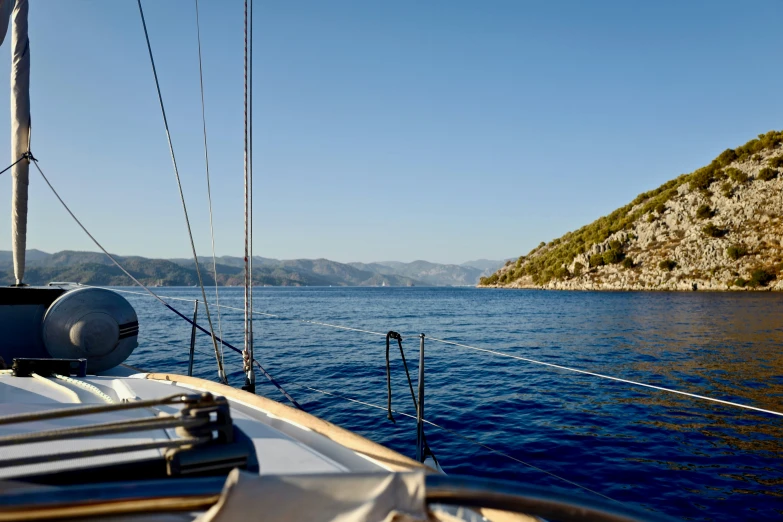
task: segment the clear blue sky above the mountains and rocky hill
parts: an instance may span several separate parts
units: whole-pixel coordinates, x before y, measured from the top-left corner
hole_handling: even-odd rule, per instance
[[[194,4],[144,6],[207,254]],[[517,256],[783,128],[779,0],[255,8],[259,255]],[[242,3],[202,0],[201,14],[217,251],[239,255]],[[188,256],[135,1],[31,0],[30,40],[32,149],[63,197],[113,252]],[[28,246],[95,250],[31,179]],[[10,187],[6,173],[0,249]]]

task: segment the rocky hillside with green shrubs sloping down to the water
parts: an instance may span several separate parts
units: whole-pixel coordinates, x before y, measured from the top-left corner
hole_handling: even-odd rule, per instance
[[[508,262],[479,286],[783,290],[783,131]]]

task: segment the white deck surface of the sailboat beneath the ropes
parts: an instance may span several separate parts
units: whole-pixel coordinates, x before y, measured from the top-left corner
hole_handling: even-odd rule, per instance
[[[119,373],[119,372],[118,372]],[[124,372],[126,373],[126,372]],[[195,388],[164,381],[147,380],[144,374],[129,376],[89,376],[78,379],[96,386],[116,402],[146,400],[177,393],[193,393]],[[32,377],[0,375],[0,416],[27,413],[76,405],[105,404],[96,393],[62,380],[42,382]],[[59,388],[62,387],[62,388]],[[75,394],[75,395],[74,395]],[[275,417],[256,407],[229,400],[234,424],[253,440],[261,474],[340,473],[386,471],[382,464],[345,448],[330,439]],[[83,426],[120,419],[152,417],[159,412],[174,413],[178,408],[161,406],[144,410],[127,410],[99,415],[86,415],[48,421],[0,426],[0,436],[56,428]],[[150,442],[175,438],[171,430],[151,430],[138,433],[93,436],[68,441],[21,444],[3,448],[0,461],[30,454],[54,454],[63,451],[104,446]],[[22,477],[44,470],[66,470],[108,463],[130,462],[162,456],[162,450],[147,450],[81,460],[60,461],[13,468],[0,467],[0,479]]]

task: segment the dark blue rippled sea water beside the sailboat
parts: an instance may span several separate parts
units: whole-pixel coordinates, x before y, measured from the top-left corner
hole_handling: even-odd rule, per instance
[[[196,298],[195,288],[159,288]],[[214,295],[214,294],[213,294]],[[187,372],[189,326],[128,296],[146,370]],[[242,289],[221,292],[242,306]],[[568,293],[447,288],[257,288],[256,309],[404,336],[413,378],[417,334],[783,411],[783,296],[771,293]],[[175,302],[192,314],[192,303]],[[203,308],[200,323],[206,324]],[[217,321],[215,321],[217,328]],[[242,345],[242,313],[224,310]],[[384,339],[278,319],[255,322],[256,356],[304,408],[404,454],[415,423],[296,384],[386,404]],[[783,418],[427,342],[426,417],[618,501],[690,520],[783,518]],[[216,379],[208,336],[196,375]],[[399,353],[394,407],[413,414]],[[232,384],[241,359],[228,353]],[[259,393],[284,401],[262,382]],[[448,473],[588,494],[429,427]]]

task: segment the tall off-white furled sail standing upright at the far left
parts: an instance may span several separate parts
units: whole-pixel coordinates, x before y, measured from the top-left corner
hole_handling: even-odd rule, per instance
[[[16,0],[11,14],[11,157],[14,161],[30,151],[30,41],[27,38],[27,0]],[[24,277],[27,247],[27,188],[30,161],[11,170],[11,239],[16,284]]]

